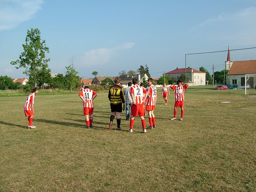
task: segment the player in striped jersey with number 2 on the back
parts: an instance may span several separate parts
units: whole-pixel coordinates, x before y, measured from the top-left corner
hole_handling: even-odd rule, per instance
[[[133,125],[134,125],[134,117],[139,115],[141,119],[141,124],[143,128],[143,133],[146,133],[146,123],[144,119],[144,105],[145,98],[148,96],[148,91],[145,90],[143,87],[138,85],[138,79],[133,79],[132,83],[134,86],[131,87],[131,98],[132,98],[132,105],[131,105],[131,120],[130,120],[130,129],[128,130],[132,133]],[[145,96],[143,97],[143,93]]]

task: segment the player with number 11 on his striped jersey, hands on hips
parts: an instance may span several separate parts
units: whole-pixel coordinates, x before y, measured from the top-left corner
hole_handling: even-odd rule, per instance
[[[79,93],[79,97],[84,102],[84,115],[85,115],[85,122],[86,128],[90,128],[93,126],[93,99],[97,96],[97,93],[94,90],[90,90],[88,86],[84,87]],[[89,119],[90,115],[90,119]]]

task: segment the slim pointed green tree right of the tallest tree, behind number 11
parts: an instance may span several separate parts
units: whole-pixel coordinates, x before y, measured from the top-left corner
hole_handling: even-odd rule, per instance
[[[75,58],[73,56],[70,58],[70,65],[65,67],[67,69],[65,77],[67,79],[67,87],[70,88],[70,92],[80,84],[80,78],[77,76],[78,71],[75,70],[74,60]]]

